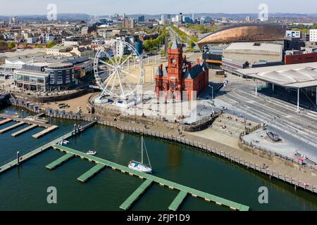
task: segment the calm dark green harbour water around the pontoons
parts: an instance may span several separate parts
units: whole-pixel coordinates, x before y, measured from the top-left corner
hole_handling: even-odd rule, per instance
[[[4,111],[20,113],[17,108]],[[51,141],[73,128],[73,121],[54,120],[59,128],[39,140],[32,138],[41,128],[12,138],[18,129],[0,134],[0,164],[14,158],[16,151],[26,153],[43,143]],[[0,126],[9,126],[8,123]],[[128,165],[130,160],[139,160],[140,136],[122,133],[97,125],[80,136],[70,139],[68,146],[76,150],[97,150],[98,157]],[[200,153],[186,146],[179,146],[156,139],[145,138],[154,175],[180,184],[215,194],[237,203],[249,205],[251,210],[317,210],[317,197],[304,191],[294,191],[293,186],[283,184],[257,172],[244,169],[222,158]],[[20,167],[0,174],[0,210],[119,210],[142,181],[104,169],[86,184],[77,177],[87,172],[94,164],[73,158],[52,171],[45,166],[61,157],[56,150],[47,150]],[[46,203],[46,188],[55,186],[58,204]],[[258,202],[258,189],[269,190],[269,204]],[[168,210],[177,191],[170,191],[154,184],[131,210]],[[228,210],[199,198],[187,197],[180,210]]]

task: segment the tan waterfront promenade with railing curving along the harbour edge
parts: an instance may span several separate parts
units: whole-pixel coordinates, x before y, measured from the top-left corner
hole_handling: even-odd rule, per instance
[[[216,136],[213,135],[197,135],[199,132],[183,132],[180,136],[178,129],[166,127],[161,122],[146,124],[147,128],[145,128],[145,124],[137,123],[138,121],[135,120],[120,120],[120,116],[117,117],[115,121],[111,113],[109,113],[107,117],[89,114],[72,117],[63,117],[62,115],[53,116],[62,119],[86,121],[92,121],[96,118],[99,124],[118,128],[121,131],[145,134],[154,138],[192,146],[197,148],[197,150],[214,153],[232,162],[237,162],[237,164],[243,165],[248,169],[254,169],[263,174],[267,174],[270,178],[275,177],[288,184],[292,184],[294,188],[301,187],[311,193],[317,193],[317,174],[315,171],[310,171],[309,167],[300,165],[297,165],[297,168],[291,167],[287,165],[287,161],[283,161],[280,157],[275,157],[275,155],[270,159],[264,158],[261,152],[258,155],[254,155],[248,150],[242,150],[238,144],[236,145],[234,143],[233,139],[223,141],[223,139],[217,139]],[[279,160],[275,160],[275,158]]]

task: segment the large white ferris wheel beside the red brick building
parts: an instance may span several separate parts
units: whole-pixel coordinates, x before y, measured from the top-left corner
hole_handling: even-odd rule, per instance
[[[94,77],[102,91],[101,96],[125,100],[143,83],[142,58],[126,41],[106,41],[94,58]]]

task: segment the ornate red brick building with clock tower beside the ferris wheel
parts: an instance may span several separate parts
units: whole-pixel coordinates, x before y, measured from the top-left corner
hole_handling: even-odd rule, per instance
[[[155,92],[164,91],[166,99],[182,100],[182,91],[188,91],[188,99],[192,99],[193,91],[197,96],[209,86],[209,69],[204,61],[197,59],[196,65],[182,56],[182,47],[175,41],[168,49],[168,66],[159,70],[155,76]]]

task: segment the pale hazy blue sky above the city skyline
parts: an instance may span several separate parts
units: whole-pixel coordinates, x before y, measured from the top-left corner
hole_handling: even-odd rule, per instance
[[[46,15],[56,4],[57,13],[90,15],[162,13],[317,13],[316,0],[0,0],[0,15]]]

